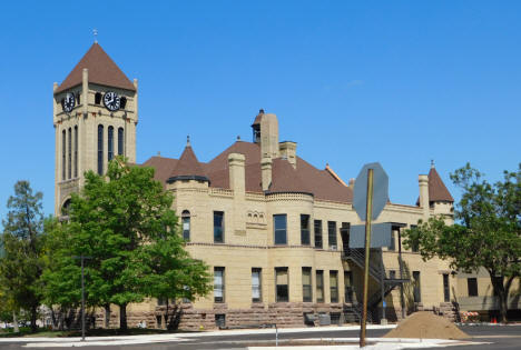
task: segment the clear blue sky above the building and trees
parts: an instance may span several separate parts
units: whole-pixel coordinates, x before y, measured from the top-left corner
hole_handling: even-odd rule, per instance
[[[0,10],[0,217],[19,179],[53,211],[52,82],[99,43],[139,80],[137,160],[208,161],[250,140],[259,108],[281,140],[344,179],[380,161],[413,204],[431,159],[491,181],[521,161],[519,1],[9,1]]]

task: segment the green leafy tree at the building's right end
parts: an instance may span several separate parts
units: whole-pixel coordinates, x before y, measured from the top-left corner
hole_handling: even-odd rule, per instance
[[[464,272],[484,268],[504,322],[510,288],[521,276],[521,164],[494,184],[469,163],[451,179],[462,189],[458,223],[448,226],[442,217],[420,222],[404,232],[404,244],[419,247],[423,260],[438,256]]]

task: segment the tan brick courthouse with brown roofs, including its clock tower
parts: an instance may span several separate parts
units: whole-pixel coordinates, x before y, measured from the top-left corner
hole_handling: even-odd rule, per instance
[[[138,84],[95,43],[53,92],[60,214],[86,170],[102,174],[117,154],[136,162]],[[242,128],[252,128],[253,140],[234,140],[208,162],[197,159],[197,144],[187,140],[178,144],[178,159],[157,156],[142,164],[155,168],[155,178],[174,194],[186,249],[214,274],[207,297],[179,301],[180,327],[357,321],[363,251],[348,247],[351,226],[362,223],[352,207],[354,182],[345,183],[327,164],[318,169],[305,161],[297,142],[283,141],[275,114],[245,116]],[[444,261],[424,262],[406,250],[400,232],[435,214],[452,222],[453,199],[434,166],[411,186],[419,188],[417,203],[389,202],[377,221],[392,223],[392,240],[372,250],[375,322],[383,304],[389,320],[417,309],[452,312],[454,272]],[[149,300],[130,306],[128,314],[130,326],[164,327],[165,306]],[[117,322],[116,308],[112,316]]]

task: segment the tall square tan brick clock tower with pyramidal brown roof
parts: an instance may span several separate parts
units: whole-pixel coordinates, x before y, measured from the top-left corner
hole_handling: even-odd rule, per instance
[[[61,84],[55,82],[56,216],[83,186],[85,171],[104,174],[116,156],[136,162],[137,88],[97,42]]]

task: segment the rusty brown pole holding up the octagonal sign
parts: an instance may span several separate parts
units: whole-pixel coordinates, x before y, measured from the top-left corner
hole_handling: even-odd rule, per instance
[[[364,269],[364,306],[360,324],[360,347],[365,347],[365,323],[367,321],[368,264],[371,249],[371,217],[373,216],[373,169],[367,169],[367,204],[365,211],[365,269]]]

